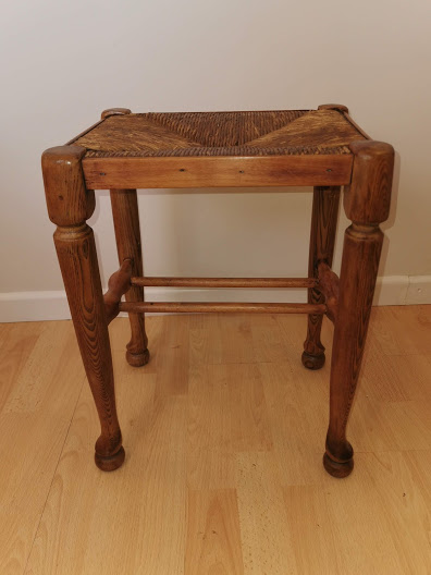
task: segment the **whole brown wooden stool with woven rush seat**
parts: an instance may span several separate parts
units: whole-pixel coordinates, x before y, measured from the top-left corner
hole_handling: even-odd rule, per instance
[[[394,150],[373,142],[345,106],[274,112],[141,113],[114,108],[65,146],[42,155],[48,212],[76,338],[98,409],[96,464],[124,461],[116,417],[109,322],[130,314],[127,362],[149,360],[144,314],[308,314],[303,364],[324,364],[322,317],[334,322],[330,423],[323,464],[334,477],[353,469],[346,425],[367,335]],[[147,278],[143,274],[136,188],[315,186],[308,278]],[[352,225],[345,232],[340,281],[331,270],[340,192]],[[93,230],[94,189],[110,189],[120,269],[103,296]],[[307,304],[150,303],[144,288],[307,288]],[[121,302],[125,294],[125,303]]]

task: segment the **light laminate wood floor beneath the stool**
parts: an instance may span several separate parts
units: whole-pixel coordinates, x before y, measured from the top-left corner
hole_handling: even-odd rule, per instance
[[[305,316],[147,327],[138,369],[110,328],[126,461],[103,474],[72,323],[0,326],[1,575],[431,573],[431,306],[373,309],[342,480]]]

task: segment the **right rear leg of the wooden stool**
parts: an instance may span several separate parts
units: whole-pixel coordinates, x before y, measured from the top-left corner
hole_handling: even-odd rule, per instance
[[[336,222],[338,219],[340,187],[315,187],[312,198],[310,253],[308,274],[317,278],[318,265],[332,266]],[[323,304],[323,295],[316,289],[308,290],[309,304]],[[309,315],[307,339],[304,342],[303,364],[308,369],[320,369],[324,364],[324,346],[320,341],[322,315]]]

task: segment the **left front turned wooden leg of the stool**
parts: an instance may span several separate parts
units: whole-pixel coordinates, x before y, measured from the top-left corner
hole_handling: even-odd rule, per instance
[[[85,149],[60,146],[42,155],[48,212],[58,228],[54,243],[81,355],[100,418],[96,465],[111,472],[124,461],[116,417],[108,322],[93,230],[94,192],[85,188]]]

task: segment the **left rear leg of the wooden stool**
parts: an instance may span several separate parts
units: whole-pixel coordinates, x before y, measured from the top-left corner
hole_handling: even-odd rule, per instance
[[[139,212],[136,189],[111,189],[112,217],[115,229],[120,266],[126,258],[133,261],[132,276],[143,276]],[[126,292],[127,302],[144,302],[144,288],[132,285]],[[131,366],[148,364],[148,338],[144,314],[130,314],[132,339],[127,344],[126,359]]]

